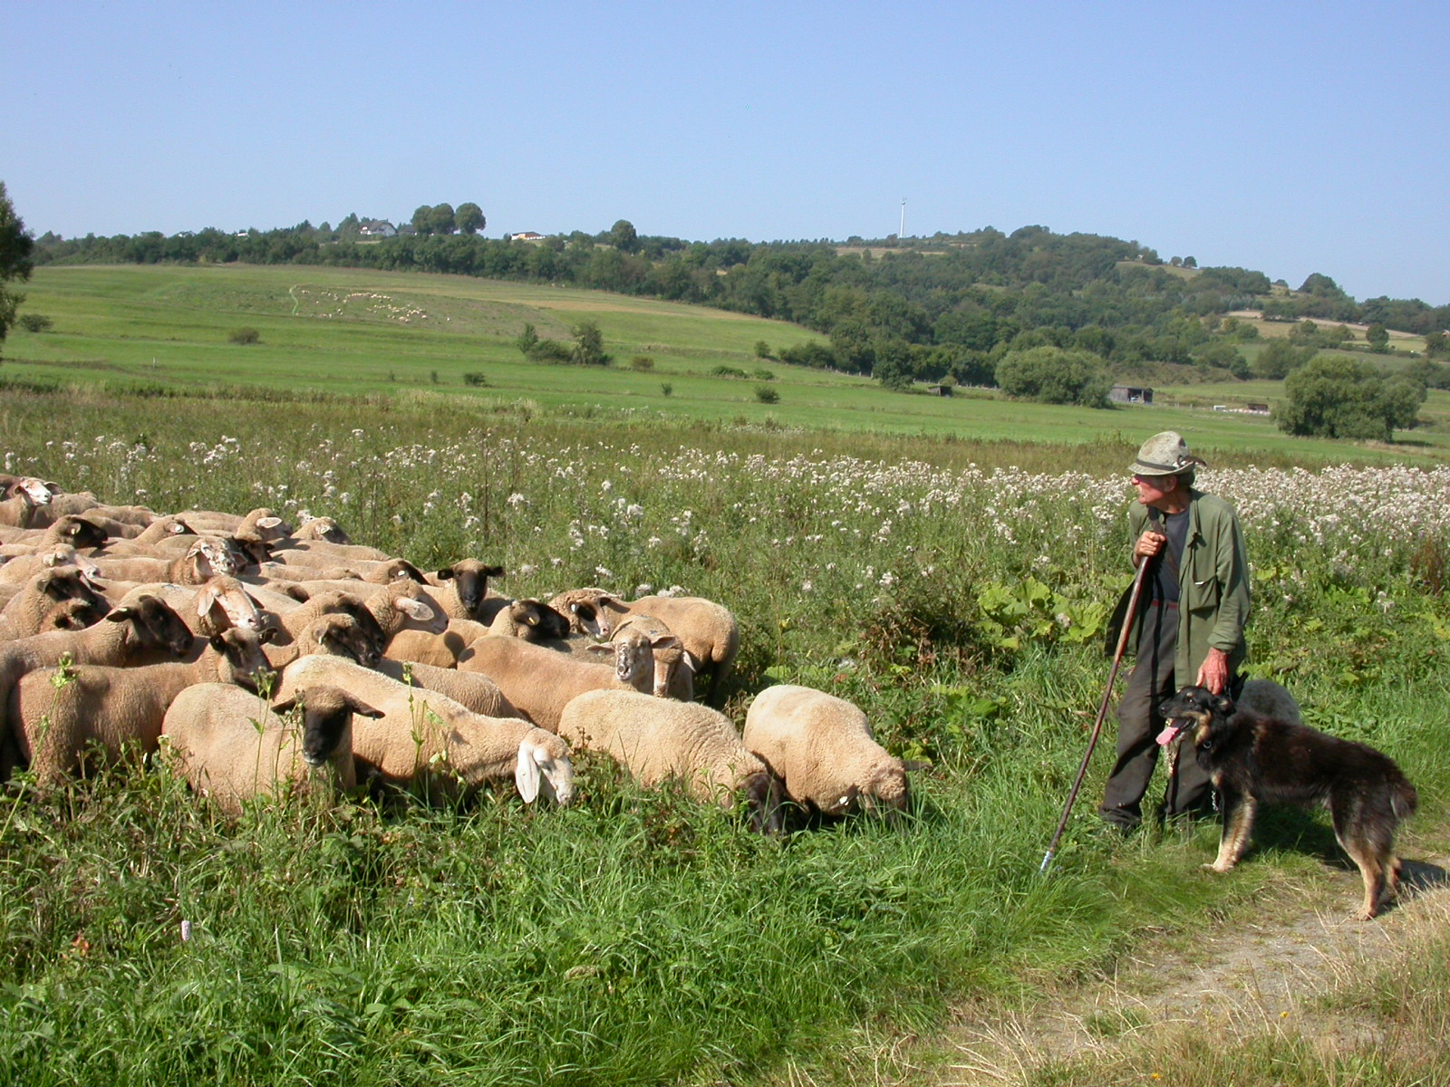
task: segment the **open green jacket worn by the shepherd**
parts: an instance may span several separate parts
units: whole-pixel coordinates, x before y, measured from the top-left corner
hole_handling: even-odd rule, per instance
[[[1130,539],[1143,535],[1148,528],[1147,506],[1135,504],[1130,510],[1128,528]],[[1224,499],[1189,488],[1188,538],[1179,564],[1177,655],[1173,659],[1177,684],[1193,683],[1209,649],[1228,654],[1230,674],[1237,674],[1244,662],[1247,622],[1248,552],[1238,516]],[[1137,646],[1140,633],[1141,625],[1134,616],[1130,646]]]

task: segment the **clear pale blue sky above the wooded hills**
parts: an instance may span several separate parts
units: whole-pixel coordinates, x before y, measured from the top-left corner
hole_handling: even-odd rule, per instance
[[[36,235],[1114,235],[1450,303],[1450,3],[0,0]]]

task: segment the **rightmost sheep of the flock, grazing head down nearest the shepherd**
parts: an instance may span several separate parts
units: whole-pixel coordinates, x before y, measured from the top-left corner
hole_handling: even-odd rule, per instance
[[[905,764],[873,739],[860,709],[832,694],[767,687],[745,715],[745,746],[780,777],[786,796],[822,815],[896,813],[909,803]]]

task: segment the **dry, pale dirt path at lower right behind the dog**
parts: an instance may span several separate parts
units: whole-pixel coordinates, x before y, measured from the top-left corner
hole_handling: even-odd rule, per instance
[[[1112,978],[1019,1013],[963,1010],[948,1032],[951,1057],[938,1087],[1021,1084],[1048,1061],[1111,1052],[1172,1023],[1214,1025],[1227,1036],[1292,1029],[1317,1045],[1348,1049],[1375,1025],[1324,1010],[1315,997],[1354,975],[1356,964],[1406,955],[1427,929],[1450,925],[1450,857],[1405,862],[1399,904],[1376,920],[1348,915],[1359,872],[1266,904],[1254,925],[1219,923],[1189,942],[1148,941]]]

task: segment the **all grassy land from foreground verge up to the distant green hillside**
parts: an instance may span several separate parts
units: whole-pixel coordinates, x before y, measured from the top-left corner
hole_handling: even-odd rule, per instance
[[[1214,825],[1101,836],[1111,720],[1038,875],[1128,580],[1124,468],[1166,426],[1244,520],[1256,674],[1404,765],[1421,813],[1402,855],[1450,848],[1436,442],[1290,442],[1211,410],[938,400],[773,364],[767,407],[708,371],[809,333],[548,288],[306,275],[473,323],[302,320],[286,270],[41,270],[29,309],[55,330],[6,342],[0,471],[158,510],[331,515],[423,565],[499,562],[512,596],[719,600],[742,630],[734,719],[771,683],[851,699],[919,767],[912,813],[763,839],[587,757],[568,809],[499,788],[442,810],[270,803],[238,820],[144,764],[49,796],[20,775],[0,794],[0,1081],[941,1083],[951,1055],[932,1039],[963,1009],[1031,1009],[1111,977],[1150,935],[1259,923],[1304,888],[1347,913],[1359,877],[1314,815],[1267,813],[1228,877],[1201,868]],[[509,339],[545,312],[597,319],[625,358],[654,345],[655,372],[523,364]],[[244,323],[261,345],[226,343]],[[471,370],[490,386],[464,387]],[[1248,1036],[1198,1052],[1188,1073],[1209,1071],[1182,1081],[1259,1081],[1266,1052],[1292,1083],[1443,1081],[1443,1055],[1393,1041],[1450,1003],[1450,951],[1424,954],[1398,1001],[1334,997],[1389,1042]],[[1016,1073],[1132,1083],[1148,1067],[1163,1065]]]

